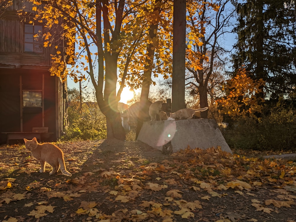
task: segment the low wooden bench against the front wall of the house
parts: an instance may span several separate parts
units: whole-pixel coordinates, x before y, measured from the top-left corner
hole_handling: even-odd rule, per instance
[[[41,142],[41,136],[43,134],[53,134],[48,133],[48,127],[33,127],[32,132],[4,132],[7,134],[7,144],[9,144],[9,140],[11,139],[33,139],[36,137],[38,142]]]

